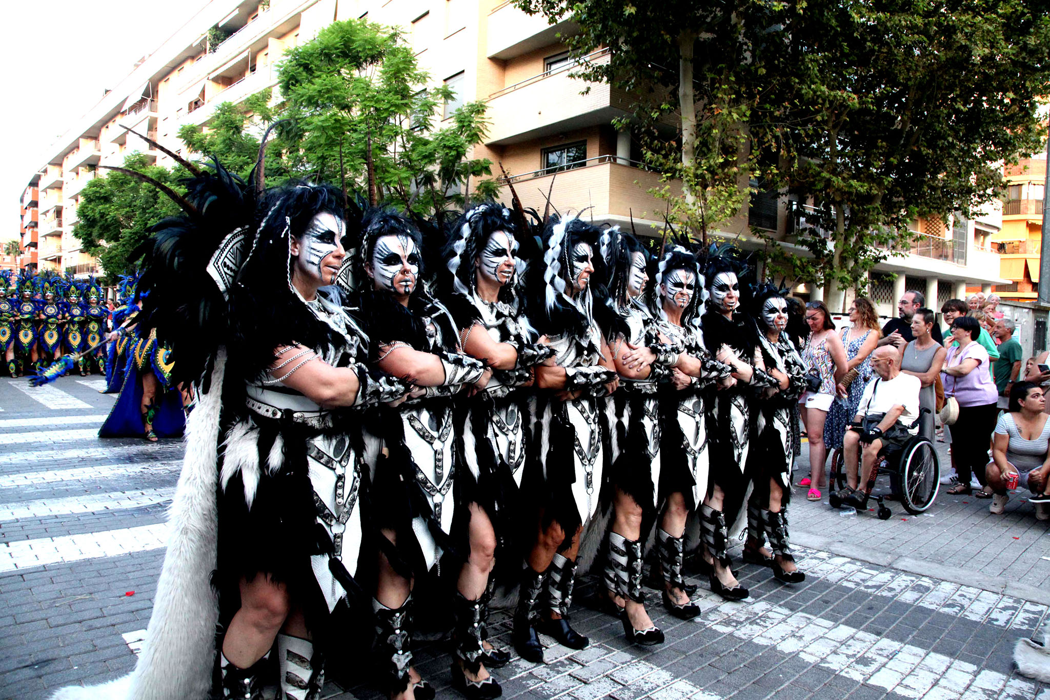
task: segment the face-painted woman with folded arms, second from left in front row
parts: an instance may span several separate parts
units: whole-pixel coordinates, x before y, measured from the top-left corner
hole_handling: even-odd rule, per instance
[[[369,313],[373,362],[416,387],[407,401],[396,410],[384,410],[377,421],[382,451],[371,465],[372,481],[376,497],[382,497],[376,504],[376,522],[388,543],[380,550],[372,601],[377,646],[390,697],[430,700],[434,688],[412,667],[413,581],[446,552],[465,558],[450,536],[469,512],[456,505],[460,489],[454,486],[465,467],[452,398],[484,389],[492,373],[484,362],[459,353],[452,315],[420,284],[419,231],[406,218],[380,209],[366,213],[361,226],[355,276],[368,284],[360,304]],[[481,546],[481,536],[476,544]],[[470,613],[480,616],[485,581],[478,591],[468,574],[467,588]],[[472,658],[464,654],[467,658],[455,667],[455,682],[471,696],[499,695],[500,686],[481,665],[484,652],[477,654],[467,641],[461,643]]]

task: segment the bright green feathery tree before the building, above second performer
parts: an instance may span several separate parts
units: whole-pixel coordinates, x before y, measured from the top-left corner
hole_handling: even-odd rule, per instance
[[[464,104],[449,126],[435,129],[436,113],[455,96],[426,88],[428,77],[394,29],[335,22],[289,49],[277,70],[289,119],[281,133],[298,142],[299,167],[318,179],[345,177],[371,200],[440,215],[449,201],[464,204],[461,185],[469,191],[471,178],[491,174],[489,161],[467,157],[484,137],[485,104]],[[478,196],[497,189],[491,179],[472,187]]]

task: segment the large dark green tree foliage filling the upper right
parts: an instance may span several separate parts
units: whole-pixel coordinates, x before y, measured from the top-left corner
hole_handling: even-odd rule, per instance
[[[863,285],[916,216],[979,210],[1002,163],[1045,133],[1045,0],[517,4],[574,20],[578,55],[611,48],[580,72],[630,91],[631,127],[647,160],[682,179],[678,215],[695,232],[732,212],[752,176],[812,200],[824,233],[798,242],[814,257],[771,239],[772,257],[833,290]]]

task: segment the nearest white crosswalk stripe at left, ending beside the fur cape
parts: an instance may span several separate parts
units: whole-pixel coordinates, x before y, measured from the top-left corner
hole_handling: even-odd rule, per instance
[[[0,572],[146,552],[161,549],[167,542],[168,524],[156,523],[121,530],[3,543],[0,544]]]

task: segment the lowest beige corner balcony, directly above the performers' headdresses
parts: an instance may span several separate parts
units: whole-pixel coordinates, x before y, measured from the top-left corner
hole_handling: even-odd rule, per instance
[[[647,190],[660,185],[659,174],[644,170],[638,167],[640,165],[615,155],[600,155],[559,169],[511,174],[510,183],[526,209],[544,211],[545,195],[553,178],[553,204],[562,214],[569,209],[580,211],[593,207],[595,221],[629,227],[633,217],[639,232],[649,232],[651,225],[662,222],[667,203],[648,193]],[[671,187],[680,189],[677,184]],[[509,201],[509,188],[504,186],[499,198]]]

